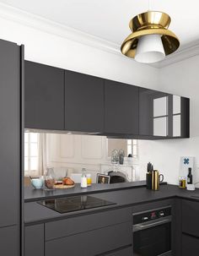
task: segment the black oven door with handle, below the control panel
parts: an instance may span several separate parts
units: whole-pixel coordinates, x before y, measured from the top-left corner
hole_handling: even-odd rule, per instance
[[[133,255],[172,255],[170,217],[133,226]]]

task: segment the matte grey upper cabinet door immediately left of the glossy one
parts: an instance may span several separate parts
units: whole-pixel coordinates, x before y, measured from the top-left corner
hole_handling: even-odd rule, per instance
[[[105,133],[138,134],[138,87],[105,80]]]

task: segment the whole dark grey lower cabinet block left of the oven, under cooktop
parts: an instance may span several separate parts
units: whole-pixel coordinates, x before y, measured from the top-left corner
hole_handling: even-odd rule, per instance
[[[132,256],[132,207],[25,226],[24,232],[25,256]]]

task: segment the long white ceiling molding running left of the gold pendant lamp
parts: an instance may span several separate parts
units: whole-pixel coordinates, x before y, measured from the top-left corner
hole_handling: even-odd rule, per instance
[[[49,34],[58,35],[68,40],[92,46],[106,52],[121,55],[120,46],[116,43],[73,29],[67,25],[56,23],[50,19],[30,14],[19,8],[13,8],[7,4],[0,3],[0,17],[13,22],[18,22],[21,25],[30,26],[36,30],[42,30]]]

